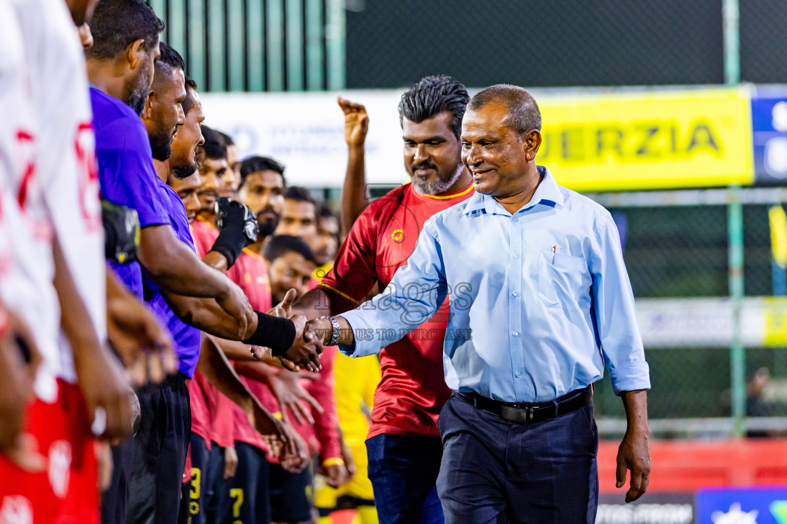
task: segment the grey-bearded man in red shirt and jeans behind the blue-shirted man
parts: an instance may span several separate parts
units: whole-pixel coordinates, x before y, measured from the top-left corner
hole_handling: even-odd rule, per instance
[[[402,95],[405,168],[412,183],[364,209],[334,268],[295,303],[294,312],[309,319],[342,313],[363,302],[375,284],[384,289],[407,263],[423,223],[473,194],[459,138],[468,100],[464,86],[448,76],[422,79]],[[363,162],[363,141],[350,145],[349,158],[350,163]],[[349,165],[350,172],[362,173],[363,168]],[[450,394],[442,365],[448,315],[446,302],[434,317],[380,353],[382,381],[366,444],[381,524],[443,522],[435,482],[442,457],[438,414]]]

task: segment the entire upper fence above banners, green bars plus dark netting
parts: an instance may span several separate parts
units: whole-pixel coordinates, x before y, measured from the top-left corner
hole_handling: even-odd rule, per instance
[[[148,1],[211,91],[723,82],[722,0]],[[740,13],[741,79],[787,82],[787,3]]]

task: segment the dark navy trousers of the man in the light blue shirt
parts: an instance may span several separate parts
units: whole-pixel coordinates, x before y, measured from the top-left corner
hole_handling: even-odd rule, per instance
[[[456,394],[439,420],[438,493],[446,524],[593,524],[598,432],[593,403],[520,424]]]

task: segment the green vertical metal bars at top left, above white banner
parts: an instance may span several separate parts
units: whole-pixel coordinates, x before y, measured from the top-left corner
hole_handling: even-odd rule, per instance
[[[150,0],[204,91],[345,86],[343,0]]]

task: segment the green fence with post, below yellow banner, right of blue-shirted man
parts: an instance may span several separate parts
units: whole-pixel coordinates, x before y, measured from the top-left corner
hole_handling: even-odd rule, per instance
[[[787,202],[785,189],[589,196],[608,207],[619,226],[638,299],[773,295],[768,210]],[[740,274],[730,270],[736,258]],[[787,434],[785,348],[744,349],[738,337],[730,348],[648,347],[645,354],[652,380],[648,412],[660,436]],[[759,389],[758,370],[767,376]],[[595,399],[601,430],[623,431],[623,405],[608,379],[597,383]]]

